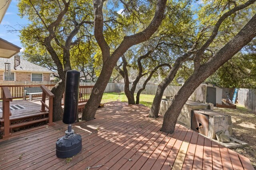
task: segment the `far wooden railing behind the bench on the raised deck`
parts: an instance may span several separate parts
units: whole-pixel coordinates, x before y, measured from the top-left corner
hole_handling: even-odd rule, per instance
[[[3,87],[8,87],[10,90],[10,93],[12,95],[12,98],[18,99],[22,98],[24,96],[24,87],[40,87],[41,85],[1,85],[0,86],[0,100],[3,98],[3,93],[2,93],[2,88]],[[52,88],[55,86],[54,84],[46,84],[46,86],[49,90],[52,90]]]

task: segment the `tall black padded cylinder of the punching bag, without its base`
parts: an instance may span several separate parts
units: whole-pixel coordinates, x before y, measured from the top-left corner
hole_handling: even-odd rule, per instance
[[[78,92],[80,72],[69,70],[66,73],[65,101],[63,123],[71,124],[76,122],[78,114]]]

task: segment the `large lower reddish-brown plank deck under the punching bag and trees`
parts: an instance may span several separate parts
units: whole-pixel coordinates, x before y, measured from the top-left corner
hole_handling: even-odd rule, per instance
[[[67,129],[62,121],[13,134],[0,140],[0,169],[253,170],[248,158],[178,123],[173,134],[161,132],[162,117],[150,119],[148,112],[142,105],[112,102],[98,109],[96,119],[73,124],[82,151],[68,163],[55,151]]]

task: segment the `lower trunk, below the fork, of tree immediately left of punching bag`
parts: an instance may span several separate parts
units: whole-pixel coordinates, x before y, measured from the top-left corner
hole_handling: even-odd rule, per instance
[[[54,88],[52,88],[51,92],[54,94],[53,98],[53,121],[62,120],[63,117],[63,109],[61,105],[62,95],[65,91],[65,83],[60,80]]]

